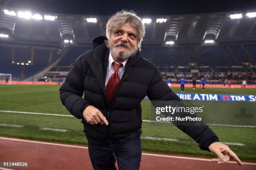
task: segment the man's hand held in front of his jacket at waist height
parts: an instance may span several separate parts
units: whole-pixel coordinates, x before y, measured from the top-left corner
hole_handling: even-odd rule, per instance
[[[107,119],[103,116],[99,109],[93,106],[88,106],[84,109],[83,117],[87,123],[92,125],[100,123],[101,125],[105,123],[108,125]]]

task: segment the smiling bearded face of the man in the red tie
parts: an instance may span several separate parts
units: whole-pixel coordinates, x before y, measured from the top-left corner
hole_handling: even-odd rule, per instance
[[[113,57],[129,58],[137,52],[138,35],[136,29],[130,23],[113,30],[108,40]]]

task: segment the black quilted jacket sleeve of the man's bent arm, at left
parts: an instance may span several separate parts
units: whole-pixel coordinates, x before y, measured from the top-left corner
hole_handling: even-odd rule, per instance
[[[77,58],[74,67],[69,71],[66,81],[59,89],[61,103],[77,119],[82,118],[83,110],[89,106],[89,102],[82,98],[84,92],[84,72],[86,63],[82,62],[82,56]]]

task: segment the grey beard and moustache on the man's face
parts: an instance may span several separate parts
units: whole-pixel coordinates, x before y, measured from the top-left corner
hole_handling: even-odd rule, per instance
[[[108,43],[108,41],[106,41],[105,43],[115,57],[122,58],[122,59],[127,59],[129,57],[133,57],[133,56],[135,56],[136,52],[138,51],[137,48],[135,50],[133,50],[128,44],[125,44],[125,43],[117,43],[112,48],[110,47],[110,44]],[[129,48],[129,50],[127,52],[120,53],[117,49],[118,46],[120,46],[120,45],[127,46]]]

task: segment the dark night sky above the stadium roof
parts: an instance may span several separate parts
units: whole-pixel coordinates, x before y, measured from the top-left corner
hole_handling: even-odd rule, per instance
[[[256,11],[256,0],[6,0],[6,8],[38,13],[112,15],[121,9],[138,15],[179,15],[228,11]]]

